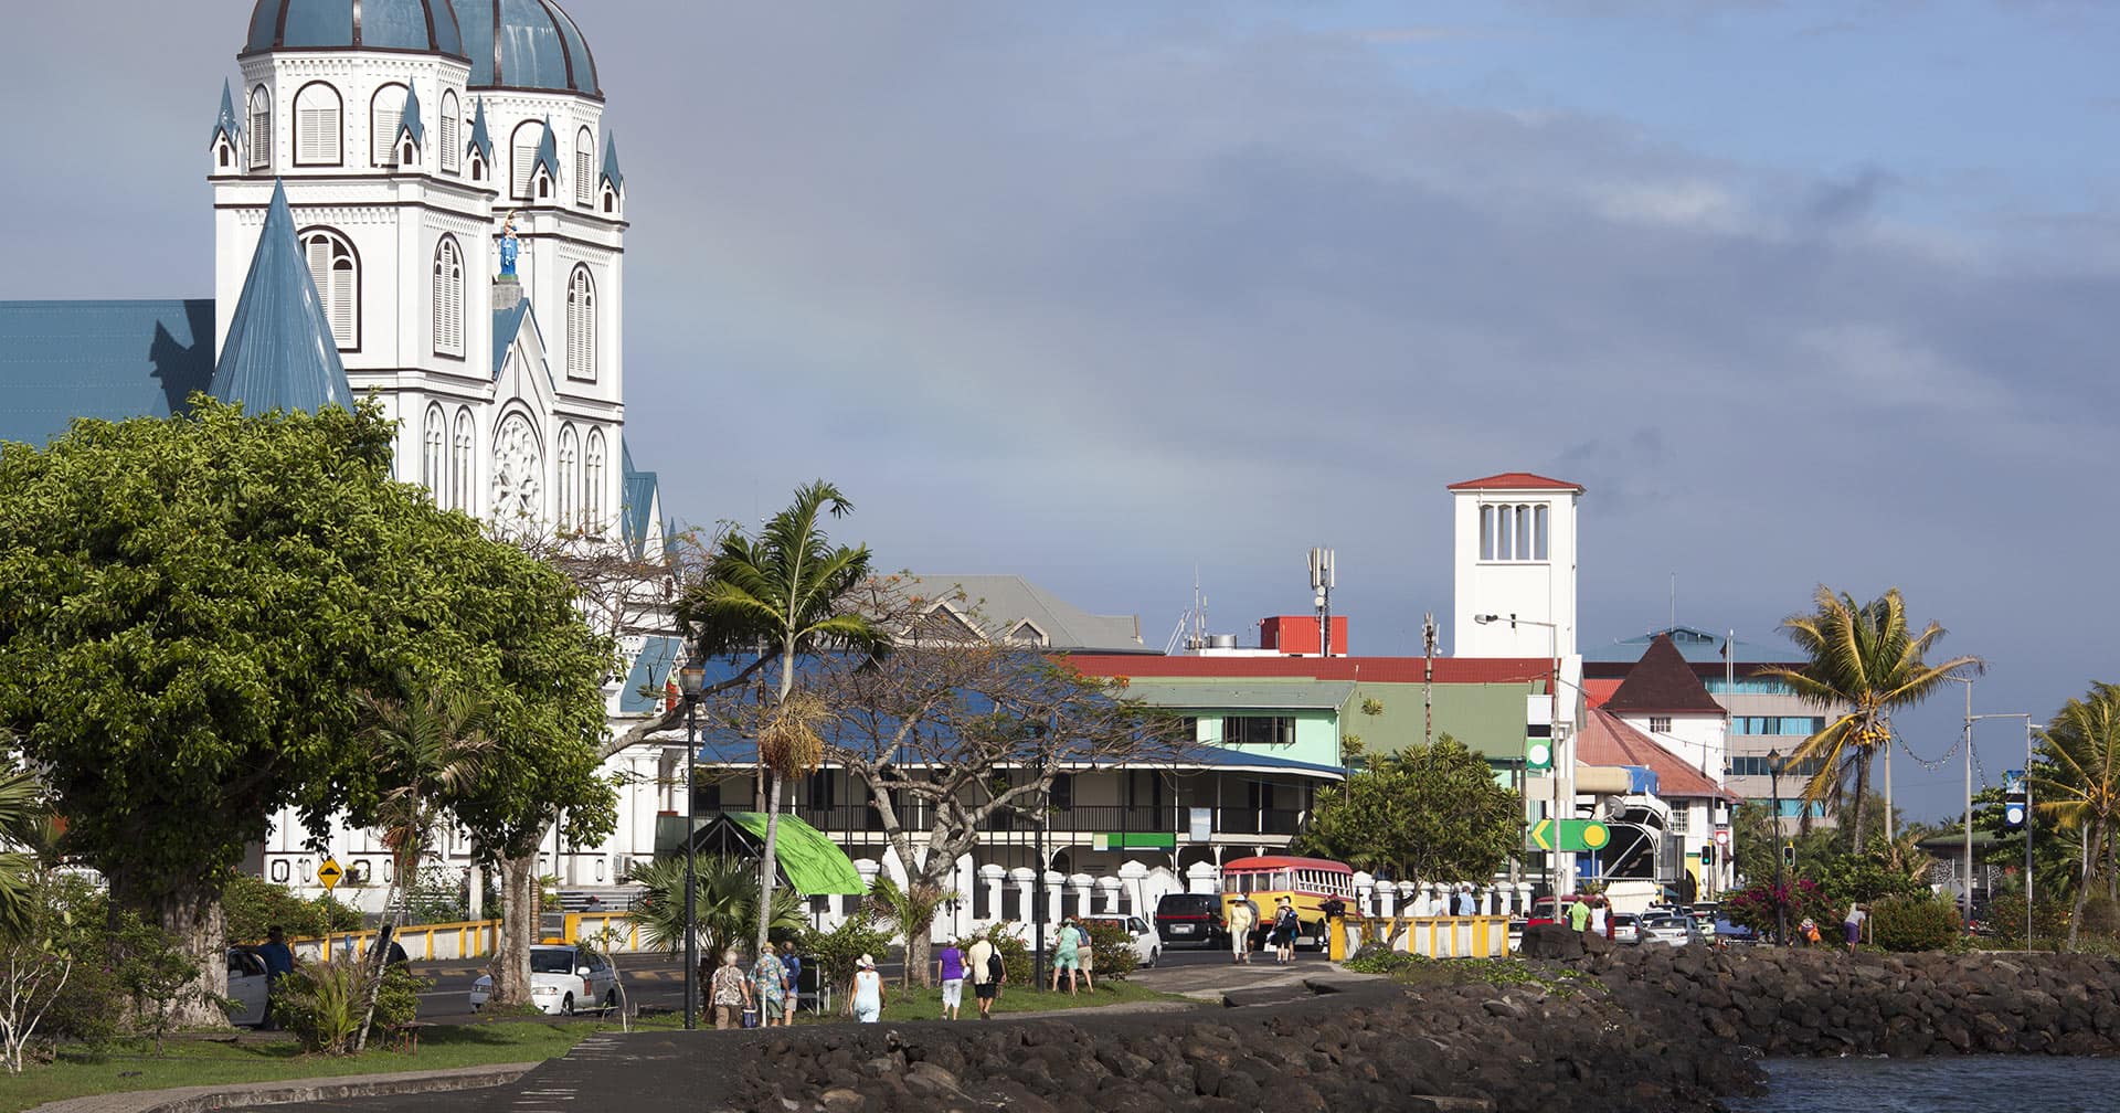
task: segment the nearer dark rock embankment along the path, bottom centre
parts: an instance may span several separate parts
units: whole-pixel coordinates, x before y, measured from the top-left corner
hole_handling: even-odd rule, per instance
[[[1509,965],[1526,971],[1526,967]],[[1596,988],[1535,982],[1024,1022],[748,1032],[717,1056],[721,1109],[1024,1113],[1717,1109],[1757,1083],[1704,1030],[1643,1032]],[[1624,1102],[1624,1105],[1622,1105]]]

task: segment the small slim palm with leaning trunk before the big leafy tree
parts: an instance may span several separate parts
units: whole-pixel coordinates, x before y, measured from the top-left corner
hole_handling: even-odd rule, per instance
[[[399,687],[411,695],[396,700],[363,691],[354,697],[365,731],[375,744],[375,780],[384,787],[377,814],[384,848],[392,861],[390,890],[384,897],[392,929],[405,926],[401,895],[420,871],[420,859],[441,827],[445,803],[477,784],[485,757],[496,746],[485,734],[485,706],[475,695],[466,691],[443,695],[407,676],[399,678]],[[384,948],[375,948],[375,958],[369,962],[371,1018],[388,958]],[[367,1022],[354,1037],[356,1054],[363,1043],[367,1043]]]

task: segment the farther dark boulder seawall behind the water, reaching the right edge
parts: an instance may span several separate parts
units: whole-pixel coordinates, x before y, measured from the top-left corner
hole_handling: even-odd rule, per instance
[[[1768,1056],[2120,1054],[2120,962],[2075,954],[1594,948],[1567,960],[1664,1039]]]

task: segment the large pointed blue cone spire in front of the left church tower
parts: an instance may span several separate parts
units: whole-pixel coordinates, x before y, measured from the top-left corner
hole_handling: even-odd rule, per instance
[[[271,409],[352,409],[354,390],[316,295],[310,263],[295,240],[286,184],[273,182],[265,231],[250,257],[250,276],[220,341],[212,394],[250,413]]]

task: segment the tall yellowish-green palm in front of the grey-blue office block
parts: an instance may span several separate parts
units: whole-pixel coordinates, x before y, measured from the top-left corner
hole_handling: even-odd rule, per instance
[[[1855,812],[1851,846],[1861,854],[1870,761],[1891,744],[1891,712],[1919,704],[1959,672],[1978,672],[1984,664],[1980,657],[1953,657],[1933,666],[1923,661],[1944,628],[1931,621],[1921,634],[1910,634],[1906,600],[1897,587],[1857,606],[1853,596],[1821,583],[1813,602],[1817,611],[1789,615],[1781,623],[1810,661],[1802,668],[1770,668],[1762,676],[1789,685],[1806,704],[1838,710],[1825,729],[1796,746],[1791,763],[1819,763],[1819,772],[1804,784],[1806,801],[1817,803],[1849,789]]]

